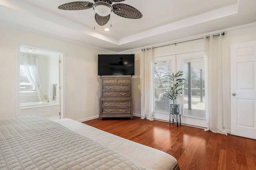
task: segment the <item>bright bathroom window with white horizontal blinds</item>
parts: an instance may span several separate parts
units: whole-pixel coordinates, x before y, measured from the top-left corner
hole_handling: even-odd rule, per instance
[[[35,78],[35,66],[29,66],[29,70],[32,71],[31,76]],[[20,65],[20,92],[36,92],[35,86],[29,81],[26,76],[25,69],[23,65]]]

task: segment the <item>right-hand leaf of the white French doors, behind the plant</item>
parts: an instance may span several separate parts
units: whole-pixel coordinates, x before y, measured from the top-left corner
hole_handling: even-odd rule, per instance
[[[208,127],[206,122],[204,51],[176,55],[176,69],[184,72],[185,90],[179,102],[182,104],[181,123]]]

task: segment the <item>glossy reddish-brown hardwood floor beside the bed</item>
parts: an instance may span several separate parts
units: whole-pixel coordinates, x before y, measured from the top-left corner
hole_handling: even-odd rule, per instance
[[[134,117],[83,122],[171,154],[181,170],[256,170],[256,140]]]

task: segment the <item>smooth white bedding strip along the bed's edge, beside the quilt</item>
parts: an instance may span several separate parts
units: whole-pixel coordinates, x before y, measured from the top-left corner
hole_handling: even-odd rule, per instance
[[[111,149],[117,150],[146,168],[156,170],[179,169],[176,159],[160,150],[118,137],[72,119],[61,119],[56,122]]]

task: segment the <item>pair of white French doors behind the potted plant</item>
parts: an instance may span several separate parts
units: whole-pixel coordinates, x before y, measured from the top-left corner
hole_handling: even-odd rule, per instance
[[[205,111],[204,51],[153,58],[153,111],[154,118],[169,121],[170,100],[162,96],[169,84],[163,84],[162,76],[184,71],[187,85],[177,103],[182,105],[181,122],[208,127]]]

